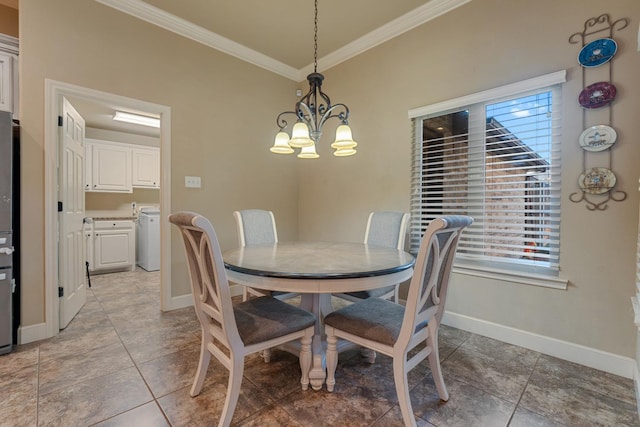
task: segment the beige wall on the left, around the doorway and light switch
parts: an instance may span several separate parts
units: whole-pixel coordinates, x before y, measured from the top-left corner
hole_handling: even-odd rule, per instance
[[[172,210],[209,217],[223,248],[236,245],[235,209],[264,207],[283,239],[297,232],[295,159],[268,151],[275,113],[297,84],[93,1],[20,2],[22,325],[44,312],[44,79],[171,108]],[[200,190],[184,176],[202,177]],[[173,234],[172,295],[188,292]]]

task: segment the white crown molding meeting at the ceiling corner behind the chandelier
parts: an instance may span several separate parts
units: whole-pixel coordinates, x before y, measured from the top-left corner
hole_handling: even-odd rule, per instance
[[[303,81],[305,76],[313,71],[312,64],[297,70],[240,43],[206,30],[155,6],[151,6],[142,0],[95,1],[296,82]],[[334,67],[470,1],[471,0],[431,0],[405,13],[401,17],[388,22],[382,27],[365,34],[344,47],[319,58],[318,68],[326,70]]]

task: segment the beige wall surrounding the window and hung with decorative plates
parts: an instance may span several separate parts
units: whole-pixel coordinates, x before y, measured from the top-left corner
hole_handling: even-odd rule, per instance
[[[606,6],[606,7],[605,7]],[[605,211],[572,203],[583,170],[577,97],[579,45],[569,36],[602,13],[628,17],[615,33],[613,82],[618,142],[612,167],[628,194]],[[409,109],[566,69],[563,90],[562,277],[566,291],[456,275],[448,310],[560,340],[633,356],[640,144],[640,2],[637,0],[473,0],[436,20],[326,72],[326,89],[352,110],[360,143],[351,158],[319,159],[301,176],[300,237],[359,240],[366,212],[409,209]],[[607,79],[606,67],[588,78]],[[594,77],[595,75],[595,77]],[[591,80],[590,83],[598,80]],[[594,119],[595,112],[589,119]],[[598,117],[595,120],[606,119]],[[606,122],[604,122],[606,123]],[[591,123],[591,124],[598,124]],[[598,157],[597,161],[604,161]],[[587,167],[601,166],[599,164]],[[354,224],[358,226],[354,227]]]

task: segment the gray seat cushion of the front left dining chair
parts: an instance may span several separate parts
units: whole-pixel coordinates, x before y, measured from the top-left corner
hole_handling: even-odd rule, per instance
[[[252,298],[234,307],[244,345],[268,341],[313,325],[316,316],[272,297]]]

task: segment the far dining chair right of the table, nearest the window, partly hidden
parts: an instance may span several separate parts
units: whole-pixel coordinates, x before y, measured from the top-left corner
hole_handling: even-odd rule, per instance
[[[404,238],[411,215],[405,212],[371,212],[364,233],[364,243],[404,250]],[[358,302],[366,298],[378,297],[398,302],[400,284],[358,292],[333,294],[338,298]]]

